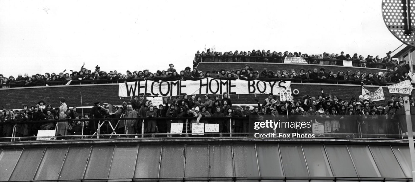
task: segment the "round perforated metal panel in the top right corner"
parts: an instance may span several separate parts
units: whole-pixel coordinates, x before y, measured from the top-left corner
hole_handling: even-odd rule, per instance
[[[407,2],[409,2],[407,4]],[[401,42],[415,46],[414,0],[383,0],[382,16],[389,31]],[[409,10],[409,12],[408,12]],[[409,16],[408,16],[409,15]],[[408,28],[406,28],[408,26]],[[405,29],[408,31],[405,34]]]

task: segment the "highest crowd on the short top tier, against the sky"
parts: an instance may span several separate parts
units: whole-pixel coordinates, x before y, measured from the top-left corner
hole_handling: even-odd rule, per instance
[[[356,61],[361,62],[358,65],[353,66],[360,66],[360,67],[375,67],[376,63],[383,63],[388,65],[395,65],[398,63],[396,60],[391,58],[391,51],[386,53],[386,57],[379,57],[379,55],[367,55],[364,57],[362,55],[358,55],[354,53],[353,56],[349,54],[344,55],[344,52],[340,52],[340,55],[337,54],[330,54],[330,53],[323,53],[323,54],[302,54],[301,52],[291,53],[285,51],[284,53],[273,51],[271,50],[252,50],[252,51],[238,51],[235,50],[234,52],[215,52],[207,49],[206,52],[203,51],[200,53],[199,51],[195,54],[195,58],[193,60],[194,66],[197,65],[198,62],[276,62],[276,63],[283,63],[286,57],[303,57],[307,59],[309,64],[322,64],[322,65],[340,65],[342,66],[343,63],[339,61],[324,61],[325,60],[348,60],[348,61]],[[317,59],[317,60],[316,60]]]

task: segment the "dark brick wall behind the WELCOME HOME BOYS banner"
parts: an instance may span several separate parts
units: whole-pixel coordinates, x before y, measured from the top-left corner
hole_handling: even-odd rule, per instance
[[[292,83],[291,89],[298,89],[300,94],[295,99],[301,99],[301,96],[308,94],[309,96],[317,96],[320,94],[320,88],[325,93],[332,94],[343,100],[349,101],[352,97],[361,95],[360,85],[344,85],[344,84],[300,84]],[[376,91],[377,86],[366,86],[369,91]],[[383,87],[386,99],[391,94],[387,87]],[[82,92],[82,104],[81,104]],[[0,105],[7,108],[17,109],[23,105],[36,105],[40,100],[50,103],[52,107],[59,107],[59,98],[66,99],[69,107],[73,106],[93,106],[93,103],[100,101],[101,103],[111,103],[113,105],[121,105],[123,101],[129,101],[129,98],[121,98],[118,96],[118,84],[95,84],[95,85],[69,85],[69,86],[44,86],[44,87],[25,87],[0,89]],[[232,103],[235,104],[255,104],[254,97],[263,101],[267,97],[264,94],[236,94],[231,95]],[[204,97],[202,97],[204,98]],[[173,99],[173,97],[168,97]],[[202,99],[203,100],[203,99]],[[380,101],[379,103],[385,103]],[[84,111],[85,112],[85,111]],[[88,111],[86,111],[88,112]]]

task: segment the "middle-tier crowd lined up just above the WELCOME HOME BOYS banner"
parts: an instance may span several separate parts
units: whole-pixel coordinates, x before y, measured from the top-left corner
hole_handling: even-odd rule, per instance
[[[264,52],[264,50],[263,50]],[[256,52],[257,53],[261,52]],[[275,53],[275,52],[274,52]],[[210,53],[212,54],[212,53]],[[342,54],[342,53],[341,53]],[[302,55],[301,53],[294,54]],[[305,56],[306,54],[304,54]],[[287,56],[291,56],[288,54]],[[335,56],[335,55],[334,55]],[[339,57],[342,58],[343,54]],[[370,62],[376,62],[376,57],[374,60],[367,58],[367,64]],[[366,63],[365,63],[366,64]],[[85,65],[85,63],[84,63]],[[100,67],[97,65],[94,70],[86,69],[84,65],[79,71],[71,71],[71,73],[60,72],[59,74],[55,73],[45,73],[45,74],[35,74],[31,77],[29,74],[19,74],[16,78],[13,76],[4,77],[0,74],[0,84],[8,84],[2,86],[2,88],[8,88],[10,84],[20,84],[23,86],[40,86],[42,85],[64,85],[70,84],[68,81],[85,81],[90,84],[97,83],[117,83],[119,80],[127,81],[128,79],[165,79],[165,80],[177,80],[177,79],[198,79],[205,77],[212,78],[233,78],[233,79],[269,79],[269,78],[278,78],[278,79],[303,79],[303,80],[347,80],[353,82],[365,82],[371,81],[375,84],[378,82],[393,82],[397,83],[399,81],[411,79],[409,73],[410,67],[408,62],[405,60],[400,62],[393,62],[392,69],[385,69],[384,72],[375,72],[369,73],[364,71],[351,72],[350,70],[342,70],[338,72],[326,71],[325,68],[318,69],[300,69],[295,71],[291,70],[267,70],[266,68],[252,68],[250,65],[245,65],[240,69],[232,70],[216,70],[212,71],[199,71],[196,67],[190,68],[186,67],[184,70],[177,71],[174,68],[173,64],[169,65],[169,68],[166,70],[157,70],[156,72],[150,72],[148,69],[142,71],[132,71],[127,70],[125,74],[117,72],[117,70],[105,72],[101,71]],[[66,72],[66,73],[65,73]],[[94,81],[95,80],[95,81]],[[58,81],[58,82],[54,82]],[[60,82],[59,82],[60,81]]]

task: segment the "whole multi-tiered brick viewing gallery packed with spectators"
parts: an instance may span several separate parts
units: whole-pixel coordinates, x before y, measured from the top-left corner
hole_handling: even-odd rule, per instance
[[[412,178],[406,61],[217,57],[196,55],[180,73],[171,64],[125,77],[97,65],[9,77],[0,89],[0,181]]]

